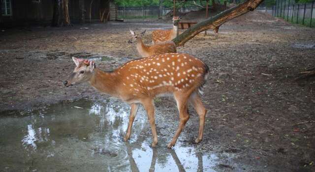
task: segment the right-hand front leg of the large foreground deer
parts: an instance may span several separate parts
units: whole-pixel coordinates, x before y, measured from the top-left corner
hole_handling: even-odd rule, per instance
[[[144,109],[147,111],[149,122],[151,125],[153,143],[152,147],[155,147],[158,144],[158,134],[156,130],[155,116],[154,116],[154,104],[153,99],[145,99],[142,102]]]

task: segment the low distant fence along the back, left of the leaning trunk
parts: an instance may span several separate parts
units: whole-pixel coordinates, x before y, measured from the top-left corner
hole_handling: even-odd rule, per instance
[[[180,12],[189,12],[191,10],[198,10],[198,7],[183,7],[179,9]],[[162,15],[166,15],[170,12],[171,8],[162,8]],[[135,7],[118,7],[118,16],[122,18],[131,17],[158,17],[159,7],[158,6],[135,6]]]

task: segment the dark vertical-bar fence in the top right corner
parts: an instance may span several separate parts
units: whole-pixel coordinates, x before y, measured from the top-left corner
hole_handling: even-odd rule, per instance
[[[315,2],[294,3],[294,0],[277,0],[272,7],[272,15],[282,17],[284,20],[315,27]]]

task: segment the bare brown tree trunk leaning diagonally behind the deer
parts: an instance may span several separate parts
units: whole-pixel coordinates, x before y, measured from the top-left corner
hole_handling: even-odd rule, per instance
[[[209,19],[193,25],[182,34],[174,38],[173,41],[176,46],[183,46],[188,40],[204,30],[214,29],[214,31],[218,31],[222,24],[254,10],[262,1],[263,0],[247,0],[246,2],[240,3],[239,5],[227,9],[216,16],[210,17]]]

